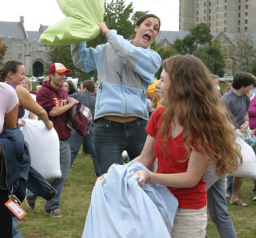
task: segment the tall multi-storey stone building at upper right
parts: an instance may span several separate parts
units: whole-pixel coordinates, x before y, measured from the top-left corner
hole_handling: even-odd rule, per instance
[[[180,0],[179,30],[205,22],[212,33],[256,34],[255,11],[256,0]]]

